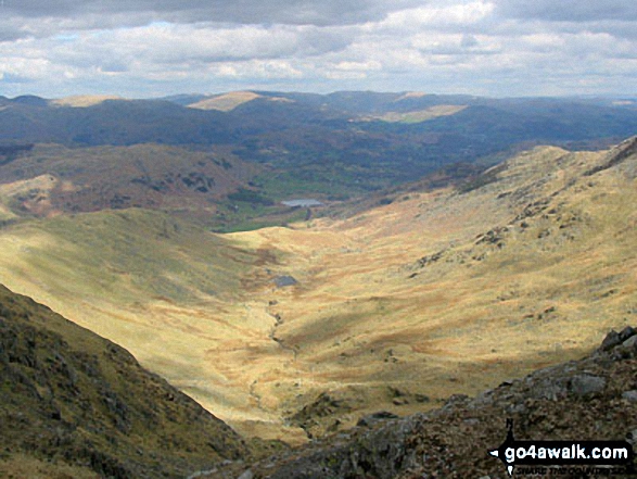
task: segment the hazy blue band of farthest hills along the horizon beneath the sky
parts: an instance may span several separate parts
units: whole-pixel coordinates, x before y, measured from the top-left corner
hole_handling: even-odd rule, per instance
[[[320,159],[388,169],[398,162],[411,177],[520,142],[608,142],[637,131],[627,100],[241,91],[135,101],[18,97],[0,105],[0,141],[226,144],[246,161],[275,165]]]

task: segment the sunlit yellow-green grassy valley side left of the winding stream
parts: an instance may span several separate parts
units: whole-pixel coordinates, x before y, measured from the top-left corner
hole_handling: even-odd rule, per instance
[[[251,365],[257,375],[284,361],[269,338],[275,318],[251,298],[255,285],[271,283],[264,265],[278,261],[273,251],[143,210],[0,229],[0,276],[14,291],[123,345],[233,426],[276,421],[269,437],[281,436],[281,421],[255,408],[250,385],[216,351],[244,360],[244,348],[269,351],[271,361]]]

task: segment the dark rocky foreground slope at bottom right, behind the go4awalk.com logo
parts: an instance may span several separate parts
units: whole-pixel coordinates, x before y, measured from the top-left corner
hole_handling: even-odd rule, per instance
[[[219,468],[203,477],[281,479],[506,478],[488,454],[513,420],[517,440],[626,441],[637,446],[637,337],[633,328],[607,337],[586,357],[501,383],[470,399],[455,395],[444,407],[405,419],[368,417],[346,433],[252,465]],[[626,445],[627,445],[626,444]],[[637,461],[633,464],[633,470]],[[588,469],[593,468],[588,466]],[[526,469],[533,469],[526,467]],[[548,467],[533,477],[627,478],[597,467]],[[576,470],[573,470],[576,469]],[[625,466],[617,467],[624,469]],[[524,472],[522,472],[524,475]]]

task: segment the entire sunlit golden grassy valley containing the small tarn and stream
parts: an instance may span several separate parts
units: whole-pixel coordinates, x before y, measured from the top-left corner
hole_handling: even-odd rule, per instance
[[[213,235],[162,212],[0,229],[4,283],[249,436],[300,442],[581,357],[637,314],[635,139]]]

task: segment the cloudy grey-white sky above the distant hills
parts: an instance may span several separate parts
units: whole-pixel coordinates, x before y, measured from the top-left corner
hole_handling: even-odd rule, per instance
[[[0,94],[637,96],[635,0],[0,0]]]

